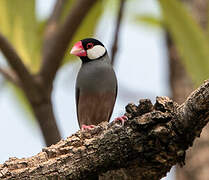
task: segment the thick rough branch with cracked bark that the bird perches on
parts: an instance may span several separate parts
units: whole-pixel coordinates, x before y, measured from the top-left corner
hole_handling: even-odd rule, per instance
[[[133,169],[127,179],[158,180],[184,164],[186,150],[209,121],[209,80],[180,106],[157,97],[154,105],[148,99],[128,104],[125,114],[124,126],[102,123],[33,157],[10,158],[0,165],[0,179],[91,179],[126,168]]]

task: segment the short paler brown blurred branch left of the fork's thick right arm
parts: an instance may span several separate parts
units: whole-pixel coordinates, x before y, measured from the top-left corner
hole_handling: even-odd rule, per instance
[[[44,40],[43,40],[43,52],[50,50],[49,44],[53,40],[54,33],[57,31],[59,20],[62,14],[62,10],[65,6],[66,0],[57,0],[54,9],[49,17],[47,26],[45,28]]]

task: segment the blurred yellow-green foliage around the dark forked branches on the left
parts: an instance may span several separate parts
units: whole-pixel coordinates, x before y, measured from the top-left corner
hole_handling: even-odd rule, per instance
[[[60,25],[75,2],[76,0],[66,2],[61,15]],[[97,22],[103,13],[102,3],[103,1],[98,1],[90,10],[73,37],[69,48],[72,47],[75,41],[94,35]],[[1,0],[0,12],[0,32],[13,44],[26,66],[33,73],[37,72],[41,64],[42,41],[47,19],[39,20],[36,17],[36,0]],[[69,56],[69,53],[67,53],[64,63],[69,62],[71,58],[73,56]],[[23,92],[13,85],[12,87],[27,115],[32,117],[31,107]]]

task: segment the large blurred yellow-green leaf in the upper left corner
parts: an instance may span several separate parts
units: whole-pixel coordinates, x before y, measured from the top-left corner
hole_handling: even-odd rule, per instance
[[[1,0],[0,31],[9,39],[32,71],[40,65],[35,0]]]

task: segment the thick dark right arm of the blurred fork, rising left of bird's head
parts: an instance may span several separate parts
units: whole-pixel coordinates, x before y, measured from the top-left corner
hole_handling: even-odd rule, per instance
[[[66,17],[64,24],[60,26],[56,33],[54,33],[53,40],[48,45],[49,50],[43,52],[42,66],[40,70],[40,77],[42,78],[44,82],[43,84],[46,88],[52,88],[52,82],[73,35],[96,2],[96,0],[75,1],[75,4]]]

